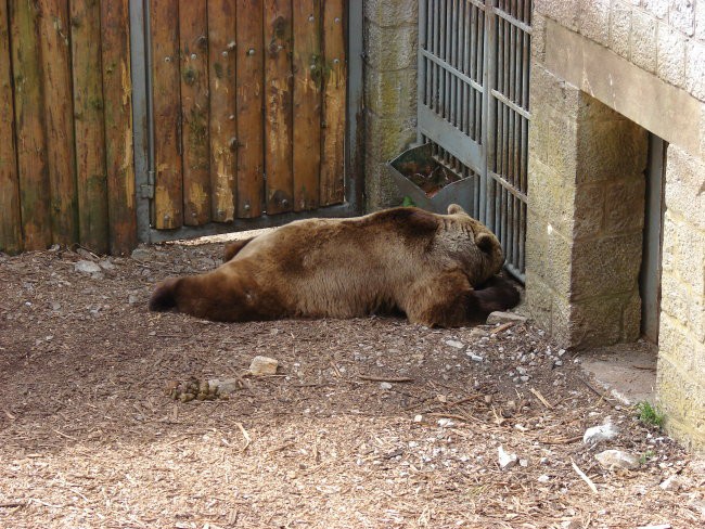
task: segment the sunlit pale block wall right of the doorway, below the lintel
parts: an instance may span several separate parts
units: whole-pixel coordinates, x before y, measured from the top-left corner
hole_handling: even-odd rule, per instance
[[[658,398],[669,430],[705,449],[705,163],[668,149]]]

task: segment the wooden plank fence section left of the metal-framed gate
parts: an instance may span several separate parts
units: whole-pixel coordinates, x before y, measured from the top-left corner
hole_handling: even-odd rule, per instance
[[[137,244],[128,0],[0,1],[0,249]]]

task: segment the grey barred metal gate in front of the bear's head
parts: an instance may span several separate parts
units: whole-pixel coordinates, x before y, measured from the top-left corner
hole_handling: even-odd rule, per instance
[[[524,280],[531,0],[419,1],[419,141],[475,180],[471,215]]]

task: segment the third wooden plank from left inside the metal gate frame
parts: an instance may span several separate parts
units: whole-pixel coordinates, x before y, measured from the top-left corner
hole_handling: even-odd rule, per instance
[[[210,205],[216,222],[229,222],[235,218],[235,0],[208,1]]]

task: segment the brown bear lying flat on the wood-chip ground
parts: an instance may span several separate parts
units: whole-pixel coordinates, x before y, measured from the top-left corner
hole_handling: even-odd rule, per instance
[[[478,322],[520,300],[499,275],[497,237],[460,206],[298,220],[226,247],[209,273],[169,279],[150,310],[208,320],[356,318],[403,312],[427,326]]]

